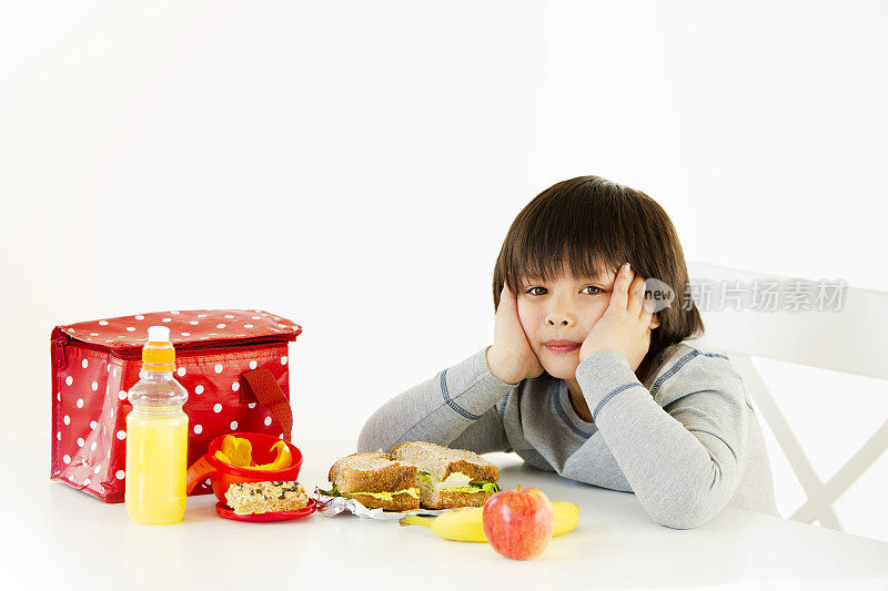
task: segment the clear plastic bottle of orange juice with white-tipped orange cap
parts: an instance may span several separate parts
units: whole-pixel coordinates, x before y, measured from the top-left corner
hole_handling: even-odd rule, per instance
[[[173,377],[170,329],[151,326],[141,378],[130,388],[127,416],[127,513],[142,526],[178,523],[185,512],[188,391]]]

